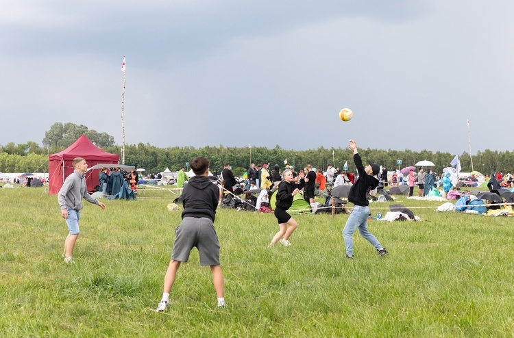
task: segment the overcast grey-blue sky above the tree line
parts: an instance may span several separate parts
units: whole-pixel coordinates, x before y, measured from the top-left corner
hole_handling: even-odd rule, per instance
[[[512,0],[0,2],[0,144],[512,151]],[[350,122],[339,110],[353,110]]]

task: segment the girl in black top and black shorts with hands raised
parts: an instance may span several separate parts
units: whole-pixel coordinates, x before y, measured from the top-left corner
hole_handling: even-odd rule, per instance
[[[299,173],[299,184],[293,183],[295,178],[293,177],[293,172],[291,170],[284,171],[283,175],[284,179],[278,185],[278,191],[276,192],[277,195],[274,211],[275,217],[278,221],[279,231],[275,236],[273,236],[273,239],[271,239],[271,243],[268,248],[274,246],[279,239],[282,245],[291,246],[289,237],[298,226],[296,220],[287,213],[287,209],[293,205],[294,196],[298,194],[300,189],[305,185],[304,174],[303,172]],[[282,237],[284,238],[282,239]]]

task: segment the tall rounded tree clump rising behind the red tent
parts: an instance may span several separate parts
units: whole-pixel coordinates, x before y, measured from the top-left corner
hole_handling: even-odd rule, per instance
[[[75,125],[75,123],[56,122],[51,125],[42,140],[43,146],[51,149],[66,148],[71,146],[82,134],[101,148],[114,146],[114,137],[108,133],[99,133],[93,129],[88,129],[85,125]]]

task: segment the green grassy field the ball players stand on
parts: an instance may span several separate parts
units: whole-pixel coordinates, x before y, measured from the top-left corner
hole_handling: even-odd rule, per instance
[[[380,258],[347,215],[295,216],[289,248],[267,244],[272,214],[221,209],[228,309],[216,309],[210,269],[196,250],[181,265],[171,306],[154,311],[180,212],[174,196],[85,202],[75,265],[67,228],[44,188],[0,190],[0,337],[513,337],[514,222],[437,213],[442,203],[399,198],[420,222],[369,222]],[[376,203],[382,214],[387,203]]]

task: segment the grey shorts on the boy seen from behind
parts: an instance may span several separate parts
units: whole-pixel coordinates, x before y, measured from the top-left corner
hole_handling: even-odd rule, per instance
[[[175,229],[171,259],[186,262],[193,247],[200,254],[200,265],[219,265],[218,235],[210,218],[184,217]]]

